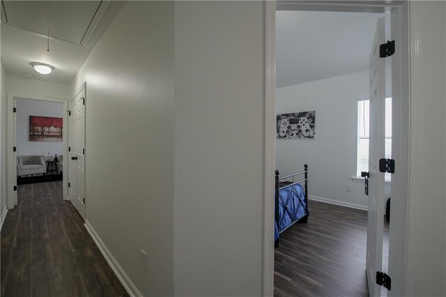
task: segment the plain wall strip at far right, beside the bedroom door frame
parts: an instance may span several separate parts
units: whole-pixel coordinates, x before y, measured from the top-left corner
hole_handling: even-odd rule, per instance
[[[446,296],[446,3],[409,1],[415,7],[405,295]]]

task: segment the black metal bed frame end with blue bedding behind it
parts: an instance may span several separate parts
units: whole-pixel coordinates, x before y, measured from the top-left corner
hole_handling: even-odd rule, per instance
[[[304,170],[302,172],[296,172],[295,174],[289,174],[287,176],[279,177],[279,174],[280,174],[279,170],[276,170],[275,174],[276,174],[276,176],[275,176],[275,221],[276,221],[278,230],[279,230],[279,226],[280,226],[279,190],[282,190],[287,187],[293,187],[294,185],[298,185],[300,183],[304,183],[303,190],[304,190],[304,197],[305,197],[305,199],[304,199],[305,200],[305,215],[302,218],[293,221],[285,229],[279,231],[279,237],[275,241],[275,247],[278,247],[280,245],[280,234],[283,231],[285,231],[286,229],[291,227],[295,222],[308,222],[308,215],[309,215],[309,211],[308,211],[308,165],[305,164]],[[301,179],[300,181],[295,181],[295,176],[300,176],[301,174],[304,175],[304,178]],[[284,185],[284,186],[280,187],[279,182],[284,181],[285,179],[289,179],[289,178],[292,178],[293,181],[288,185]],[[284,211],[287,211],[287,209],[284,208]]]

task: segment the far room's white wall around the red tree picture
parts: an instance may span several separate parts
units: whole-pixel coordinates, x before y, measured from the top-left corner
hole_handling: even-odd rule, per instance
[[[63,103],[43,100],[16,98],[17,128],[16,144],[17,155],[63,155],[62,142],[30,142],[29,116],[63,116]],[[66,127],[63,127],[63,133]]]

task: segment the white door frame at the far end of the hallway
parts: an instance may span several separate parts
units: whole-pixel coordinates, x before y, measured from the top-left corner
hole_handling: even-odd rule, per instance
[[[59,102],[63,103],[63,110],[68,109],[68,100],[61,98],[53,98],[53,97],[45,97],[45,96],[36,96],[29,94],[20,94],[20,93],[8,93],[8,136],[7,136],[7,146],[6,146],[6,160],[7,160],[7,170],[6,176],[8,180],[7,183],[7,195],[6,195],[6,206],[8,209],[12,209],[15,206],[15,195],[14,195],[14,186],[17,185],[17,161],[16,156],[17,152],[13,151],[13,147],[15,146],[15,135],[16,129],[14,125],[14,100],[15,98],[26,98],[31,100],[41,100],[41,101],[50,101],[50,102]],[[62,114],[63,125],[65,126],[68,121],[67,113],[63,112]],[[63,143],[63,155],[67,155],[68,153],[68,130],[66,128],[63,129],[62,135],[62,143]],[[63,158],[62,160],[63,168],[68,168],[67,158]],[[66,174],[63,174],[63,199],[68,199],[68,179]]]

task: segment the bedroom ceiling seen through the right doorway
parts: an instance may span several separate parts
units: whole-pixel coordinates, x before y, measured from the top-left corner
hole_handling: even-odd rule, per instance
[[[276,85],[368,69],[381,13],[277,11]]]

